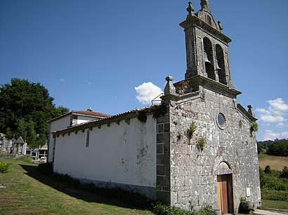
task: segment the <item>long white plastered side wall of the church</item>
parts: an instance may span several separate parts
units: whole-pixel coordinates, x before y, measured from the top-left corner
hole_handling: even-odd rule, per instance
[[[77,179],[156,187],[156,123],[131,118],[130,125],[101,125],[56,138],[54,171]]]

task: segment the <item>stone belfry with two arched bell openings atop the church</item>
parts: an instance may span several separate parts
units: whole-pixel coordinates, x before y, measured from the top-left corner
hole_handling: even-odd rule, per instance
[[[214,19],[209,1],[201,1],[197,13],[191,1],[188,15],[180,23],[184,28],[186,43],[187,70],[185,80],[190,80],[190,90],[201,90],[201,84],[209,83],[215,88],[229,91],[233,95],[241,92],[234,89],[231,80],[228,43],[231,39],[222,33],[221,22]]]

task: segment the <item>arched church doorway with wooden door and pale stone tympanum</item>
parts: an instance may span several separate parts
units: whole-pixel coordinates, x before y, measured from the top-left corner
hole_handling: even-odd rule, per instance
[[[221,162],[217,175],[218,209],[221,214],[233,214],[233,176],[226,162]]]

